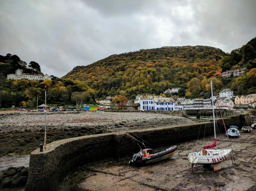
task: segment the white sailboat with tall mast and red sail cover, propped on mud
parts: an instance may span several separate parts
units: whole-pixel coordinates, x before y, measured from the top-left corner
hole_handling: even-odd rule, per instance
[[[212,105],[213,104],[213,90],[212,90],[212,80],[211,80],[211,91],[212,91]],[[213,125],[214,125],[214,142],[210,145],[205,145],[203,150],[190,153],[188,155],[188,160],[192,164],[191,172],[193,171],[194,164],[213,164],[214,171],[221,169],[221,162],[227,160],[230,155],[233,144],[228,144],[224,148],[217,148],[216,146],[216,130],[215,130],[215,116],[214,107],[213,110]],[[224,121],[223,121],[224,122]],[[226,129],[226,127],[225,127]]]

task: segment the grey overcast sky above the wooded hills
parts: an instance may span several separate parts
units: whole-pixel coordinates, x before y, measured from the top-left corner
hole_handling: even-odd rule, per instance
[[[62,77],[111,54],[256,37],[256,0],[0,0],[0,54]]]

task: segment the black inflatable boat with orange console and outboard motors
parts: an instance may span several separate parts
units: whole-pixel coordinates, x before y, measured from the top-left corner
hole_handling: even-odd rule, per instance
[[[176,145],[157,152],[153,152],[152,149],[143,149],[140,152],[133,155],[132,160],[129,161],[129,164],[145,165],[152,162],[169,159],[173,157],[177,149],[178,147]]]

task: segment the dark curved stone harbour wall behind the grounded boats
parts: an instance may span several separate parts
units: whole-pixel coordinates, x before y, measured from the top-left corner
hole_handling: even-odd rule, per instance
[[[225,119],[226,127],[244,124],[243,116]],[[217,124],[224,132],[223,125]],[[134,130],[124,134],[96,134],[70,139],[63,139],[47,144],[47,150],[39,152],[39,148],[30,154],[29,174],[26,191],[58,190],[59,184],[67,175],[78,167],[103,159],[120,159],[132,156],[139,151],[138,140],[150,143],[147,147],[169,146],[178,142],[213,134],[212,122],[192,125],[177,125],[156,129]],[[140,139],[141,138],[141,139]],[[138,140],[136,140],[138,139]]]

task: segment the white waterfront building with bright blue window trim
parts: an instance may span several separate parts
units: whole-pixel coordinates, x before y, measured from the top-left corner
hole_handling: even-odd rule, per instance
[[[147,96],[139,95],[134,100],[138,110],[160,110],[160,111],[176,111],[183,110],[183,105],[175,105],[175,101],[173,98],[163,98],[161,96]]]

